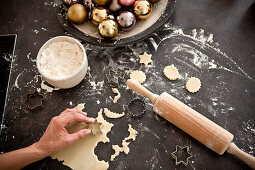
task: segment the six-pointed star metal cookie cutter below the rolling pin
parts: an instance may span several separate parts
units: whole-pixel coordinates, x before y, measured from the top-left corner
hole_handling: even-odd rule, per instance
[[[184,146],[181,147],[176,145],[175,151],[171,153],[171,156],[175,159],[175,165],[179,165],[182,163],[183,165],[187,166],[189,163],[189,159],[193,156],[189,152],[189,147]]]

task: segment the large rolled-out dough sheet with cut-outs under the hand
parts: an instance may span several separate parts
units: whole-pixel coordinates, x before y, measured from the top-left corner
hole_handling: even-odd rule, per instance
[[[51,155],[53,159],[63,161],[63,164],[75,169],[93,169],[93,170],[106,170],[109,168],[109,163],[105,161],[99,161],[94,154],[94,149],[99,142],[109,142],[107,133],[111,131],[113,127],[112,123],[104,120],[102,115],[103,110],[100,109],[96,120],[102,123],[102,133],[98,135],[89,134],[83,139],[73,143],[72,145],[64,148],[63,150]],[[76,127],[77,128],[77,127]],[[79,128],[78,128],[79,129]],[[73,131],[77,129],[73,128]],[[75,131],[74,131],[75,132]]]

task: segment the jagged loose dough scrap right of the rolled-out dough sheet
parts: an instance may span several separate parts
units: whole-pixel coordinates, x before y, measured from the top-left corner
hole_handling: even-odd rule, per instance
[[[133,141],[135,141],[138,132],[133,129],[130,124],[128,125],[128,131],[129,136],[122,140],[122,147],[120,147],[119,145],[112,145],[112,149],[115,151],[115,153],[111,155],[110,161],[113,161],[120,154],[120,152],[124,152],[126,155],[129,153],[130,150],[128,145],[130,142],[127,142],[127,140],[132,139]]]

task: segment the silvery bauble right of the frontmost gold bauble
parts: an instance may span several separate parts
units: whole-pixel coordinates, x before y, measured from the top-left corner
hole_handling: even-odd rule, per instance
[[[117,22],[123,31],[128,31],[134,28],[136,18],[132,12],[123,11],[117,16]]]

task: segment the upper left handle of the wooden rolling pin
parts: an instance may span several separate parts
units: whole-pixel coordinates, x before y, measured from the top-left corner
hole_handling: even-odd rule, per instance
[[[143,87],[140,83],[138,83],[136,80],[129,79],[127,80],[127,86],[132,89],[133,91],[147,97],[150,99],[150,101],[154,104],[155,101],[158,98],[157,94],[154,94],[147,90],[145,87]]]

